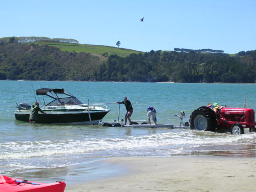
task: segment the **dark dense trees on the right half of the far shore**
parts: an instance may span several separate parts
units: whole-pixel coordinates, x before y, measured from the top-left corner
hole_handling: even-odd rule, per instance
[[[256,51],[244,57],[161,50],[125,58],[111,55],[95,78],[100,81],[254,83]]]

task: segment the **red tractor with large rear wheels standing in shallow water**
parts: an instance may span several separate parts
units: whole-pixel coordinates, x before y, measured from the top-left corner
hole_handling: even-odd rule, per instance
[[[207,106],[202,106],[190,115],[190,129],[199,131],[230,130],[231,134],[244,134],[244,128],[256,132],[254,110],[249,108],[218,107],[214,112]]]

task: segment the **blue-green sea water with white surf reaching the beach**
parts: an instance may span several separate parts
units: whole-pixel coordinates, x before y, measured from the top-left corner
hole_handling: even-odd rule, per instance
[[[39,100],[39,88],[64,88],[83,103],[108,103],[102,121],[118,119],[118,104],[127,96],[132,120],[146,120],[154,106],[158,124],[180,124],[209,102],[256,109],[256,84],[186,84],[131,82],[0,81],[0,174],[38,182],[74,182],[126,172],[102,161],[120,156],[228,156],[255,158],[255,133],[200,132],[190,129],[34,124],[15,120],[16,104]],[[47,98],[45,98],[47,100]],[[49,100],[50,101],[50,100]],[[120,105],[120,119],[126,113]]]

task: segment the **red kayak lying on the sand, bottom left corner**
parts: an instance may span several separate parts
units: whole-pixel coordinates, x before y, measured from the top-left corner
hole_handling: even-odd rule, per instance
[[[0,175],[0,192],[64,192],[65,182],[38,183]]]

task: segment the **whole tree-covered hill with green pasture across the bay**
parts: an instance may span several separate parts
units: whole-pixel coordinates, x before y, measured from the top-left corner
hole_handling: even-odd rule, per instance
[[[23,38],[31,39],[36,38]],[[256,50],[239,55],[193,50],[138,52],[81,45],[72,39],[4,40],[0,38],[0,80],[256,82]]]

